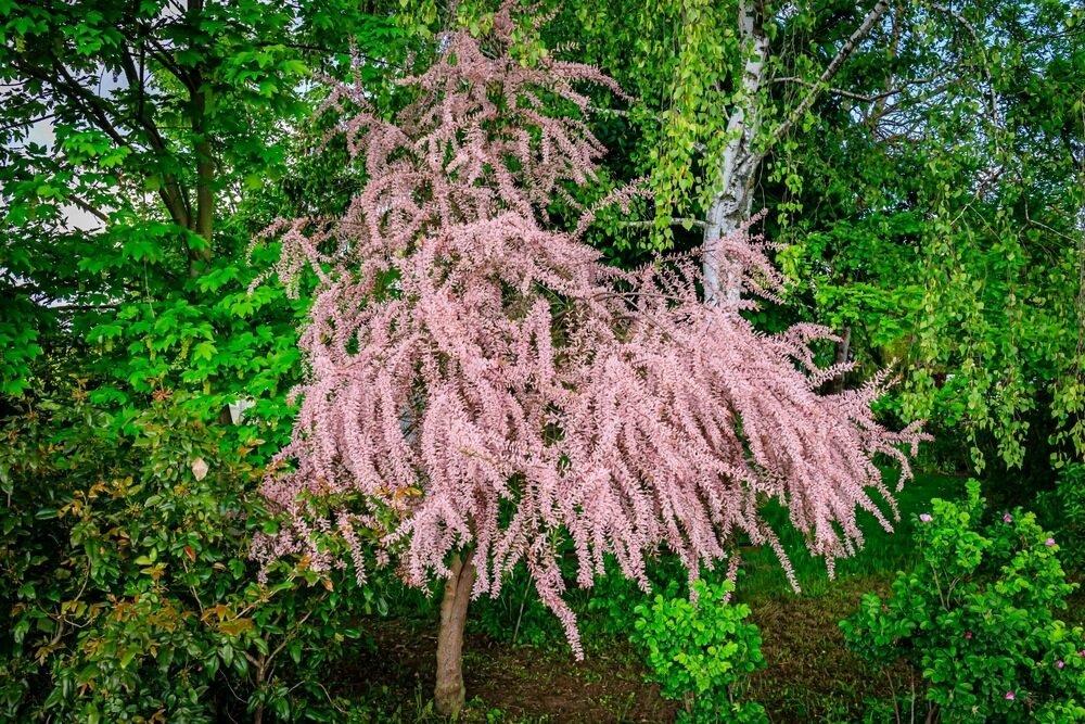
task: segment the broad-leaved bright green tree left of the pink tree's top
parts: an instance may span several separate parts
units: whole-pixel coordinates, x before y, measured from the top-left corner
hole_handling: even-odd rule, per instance
[[[240,299],[216,305],[251,234],[238,224],[242,201],[285,174],[289,134],[311,107],[310,67],[343,64],[355,37],[378,48],[391,26],[322,1],[16,2],[0,16],[13,100],[0,120],[4,331],[42,347],[42,335],[71,341],[60,329],[72,325],[117,344],[118,317],[163,328],[154,300],[182,327],[159,357],[215,363],[212,338],[230,322],[208,310]],[[218,299],[205,304],[206,292]],[[250,314],[263,303],[240,302]],[[238,352],[235,361],[251,357]],[[221,394],[207,399],[216,409],[235,397],[222,389],[225,361],[190,380]],[[150,391],[157,363],[126,382]],[[25,355],[5,366],[17,394],[33,379]]]

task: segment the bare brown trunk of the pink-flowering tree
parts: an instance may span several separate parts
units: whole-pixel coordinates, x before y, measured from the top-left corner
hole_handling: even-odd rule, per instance
[[[452,558],[452,574],[445,581],[441,601],[441,631],[437,633],[437,685],[433,698],[437,713],[457,716],[463,708],[463,625],[474,585],[475,567],[471,555]]]

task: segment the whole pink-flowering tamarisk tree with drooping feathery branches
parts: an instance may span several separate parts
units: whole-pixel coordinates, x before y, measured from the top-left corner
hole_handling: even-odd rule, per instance
[[[375,533],[378,560],[395,556],[407,583],[444,580],[444,713],[463,701],[468,601],[497,596],[519,562],[580,656],[559,541],[572,542],[582,586],[612,555],[647,589],[661,546],[693,577],[740,532],[773,545],[790,575],[761,504],[782,501],[831,562],[861,545],[857,508],[890,524],[867,494],[892,507],[872,456],[906,475],[898,447],[921,436],[875,421],[877,381],[817,394],[842,371],[814,364],[808,343],[827,330],[764,334],[739,314],[753,302],[705,305],[699,259],[610,268],[582,241],[590,214],[551,228],[548,205],[574,203],[569,189],[604,151],[576,84],[620,91],[588,66],[524,67],[508,53],[512,28],[506,5],[489,52],[444,37],[432,67],[403,81],[418,96],[393,123],[360,86],[336,86],[329,105],[368,182],[342,217],[270,230],[279,277],[294,284],[308,266],[319,285],[293,439],[263,486],[290,524],[255,555],[343,566],[321,545],[333,534],[363,576],[359,541]],[[779,291],[755,240],[717,249],[748,294]],[[350,503],[318,515],[320,498]]]

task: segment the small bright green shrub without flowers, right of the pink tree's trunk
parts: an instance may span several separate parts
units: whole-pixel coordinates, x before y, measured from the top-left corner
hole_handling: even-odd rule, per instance
[[[743,701],[745,677],[765,665],[750,608],[728,602],[733,584],[693,586],[697,602],[677,586],[636,608],[633,640],[647,652],[651,679],[682,702],[681,722],[767,722],[764,707]]]

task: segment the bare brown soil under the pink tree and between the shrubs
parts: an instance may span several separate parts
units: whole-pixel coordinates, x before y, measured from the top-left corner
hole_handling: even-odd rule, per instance
[[[838,622],[872,589],[885,593],[888,581],[856,577],[821,596],[748,601],[767,665],[751,677],[745,697],[761,701],[769,721],[863,721],[867,699],[888,697],[891,687],[909,689],[912,672],[903,665],[890,676],[873,672],[844,646]],[[1083,610],[1085,595],[1078,592],[1062,618],[1081,623]],[[334,672],[336,688],[372,701],[381,712],[374,721],[442,721],[430,707],[435,622],[376,620],[363,628],[369,646]],[[637,651],[620,639],[592,643],[577,662],[563,642],[514,647],[469,633],[463,665],[468,706],[460,721],[465,724],[667,724],[677,712],[675,702],[644,682]]]

